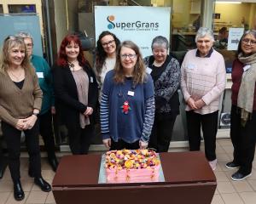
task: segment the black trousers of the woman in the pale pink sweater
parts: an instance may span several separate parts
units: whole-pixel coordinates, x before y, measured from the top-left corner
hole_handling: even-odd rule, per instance
[[[202,129],[207,160],[215,160],[218,111],[205,115],[195,113],[194,111],[186,111],[186,116],[189,134],[189,149],[191,151],[200,150]]]

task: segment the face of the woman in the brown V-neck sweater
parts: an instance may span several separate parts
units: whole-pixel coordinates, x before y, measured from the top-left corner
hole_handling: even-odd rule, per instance
[[[11,66],[20,66],[25,58],[25,48],[15,46],[9,49],[9,64]]]

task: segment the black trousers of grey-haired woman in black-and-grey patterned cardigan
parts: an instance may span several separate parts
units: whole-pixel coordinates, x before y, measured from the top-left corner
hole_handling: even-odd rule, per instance
[[[154,125],[148,142],[148,148],[154,148],[157,152],[167,152],[172,140],[172,129],[177,115],[168,117],[160,113],[154,115]]]

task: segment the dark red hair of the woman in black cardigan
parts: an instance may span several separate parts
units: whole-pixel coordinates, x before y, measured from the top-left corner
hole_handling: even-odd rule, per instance
[[[67,35],[62,40],[61,47],[60,47],[59,54],[58,54],[58,59],[57,59],[57,65],[61,65],[61,66],[67,65],[66,47],[72,41],[79,45],[79,56],[78,56],[79,65],[81,65],[81,66],[85,65],[86,60],[84,59],[82,44],[81,44],[79,37],[76,35]]]

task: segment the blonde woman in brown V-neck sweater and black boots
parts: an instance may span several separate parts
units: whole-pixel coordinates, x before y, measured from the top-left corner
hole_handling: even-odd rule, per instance
[[[34,183],[45,192],[51,190],[41,175],[37,119],[43,94],[21,37],[10,36],[4,40],[1,58],[0,116],[9,152],[9,170],[14,183],[14,196],[15,200],[21,201],[24,199],[24,191],[20,184],[21,131],[26,136]]]

